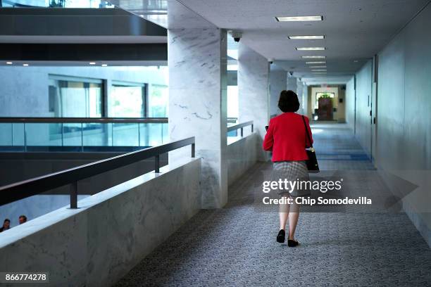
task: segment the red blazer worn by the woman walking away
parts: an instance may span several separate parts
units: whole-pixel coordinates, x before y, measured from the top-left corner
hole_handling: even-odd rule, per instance
[[[308,160],[306,146],[313,144],[310,123],[305,117],[311,143],[306,136],[302,115],[282,113],[270,120],[268,131],[263,139],[263,149],[273,151],[273,162],[287,160]]]

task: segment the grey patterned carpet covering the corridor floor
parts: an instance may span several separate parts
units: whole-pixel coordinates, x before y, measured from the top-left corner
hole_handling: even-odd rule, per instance
[[[314,129],[323,170],[373,169],[344,125]],[[275,241],[275,212],[251,206],[260,163],[117,286],[431,286],[431,250],[403,213],[302,213],[297,248]]]

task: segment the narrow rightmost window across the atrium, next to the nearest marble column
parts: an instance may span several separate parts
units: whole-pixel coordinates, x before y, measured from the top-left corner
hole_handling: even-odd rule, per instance
[[[168,117],[168,86],[151,84],[148,117]]]

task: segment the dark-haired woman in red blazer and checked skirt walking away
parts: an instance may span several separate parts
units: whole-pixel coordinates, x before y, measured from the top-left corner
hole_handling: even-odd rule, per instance
[[[308,117],[295,113],[299,110],[299,101],[294,91],[281,91],[278,108],[283,113],[270,120],[263,140],[263,149],[273,151],[273,172],[280,174],[282,179],[287,179],[287,181],[308,180],[306,166],[308,156],[305,148],[313,144]],[[309,133],[311,142],[308,141],[306,132]],[[286,190],[281,190],[279,193],[282,198],[292,198],[293,202],[292,196],[297,194],[296,191],[289,193]],[[285,242],[286,222],[289,219],[287,245],[294,247],[299,244],[294,239],[298,217],[299,206],[296,203],[280,205],[280,231],[277,235],[277,242]]]

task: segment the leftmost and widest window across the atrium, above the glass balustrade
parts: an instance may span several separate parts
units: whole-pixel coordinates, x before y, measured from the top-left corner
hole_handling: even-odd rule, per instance
[[[49,75],[49,112],[54,117],[101,117],[101,79]]]

